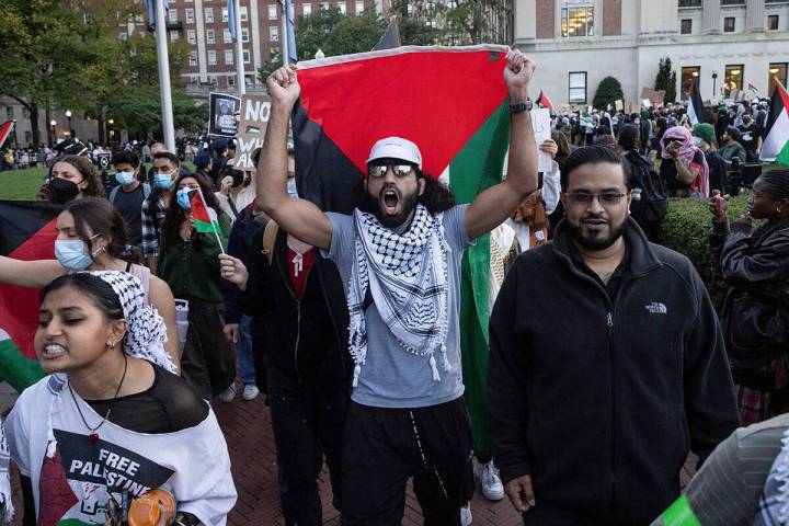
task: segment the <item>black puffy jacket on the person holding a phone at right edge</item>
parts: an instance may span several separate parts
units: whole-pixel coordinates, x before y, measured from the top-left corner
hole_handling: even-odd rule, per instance
[[[757,371],[789,353],[789,225],[713,222],[710,245],[725,284],[723,335],[737,384],[771,389]],[[748,373],[753,371],[753,374]]]

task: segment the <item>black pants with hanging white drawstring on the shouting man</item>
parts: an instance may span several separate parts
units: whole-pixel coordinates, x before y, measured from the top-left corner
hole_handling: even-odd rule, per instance
[[[343,525],[399,526],[411,477],[424,524],[459,525],[471,444],[462,397],[419,409],[351,402],[342,464]]]

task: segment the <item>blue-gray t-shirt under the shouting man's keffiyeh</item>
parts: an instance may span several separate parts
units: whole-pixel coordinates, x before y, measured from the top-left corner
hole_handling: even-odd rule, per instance
[[[464,251],[472,244],[466,230],[468,205],[458,205],[444,213],[444,236],[449,245],[447,254],[448,316],[447,359],[451,370],[438,363],[441,381],[433,380],[428,356],[418,356],[398,344],[381,320],[375,304],[366,311],[367,359],[362,367],[358,386],[351,399],[375,408],[424,408],[455,400],[464,392],[460,365],[460,261]],[[328,213],[332,222],[332,240],[324,255],[336,263],[345,289],[348,288],[351,267],[355,258],[356,226],[353,216]]]

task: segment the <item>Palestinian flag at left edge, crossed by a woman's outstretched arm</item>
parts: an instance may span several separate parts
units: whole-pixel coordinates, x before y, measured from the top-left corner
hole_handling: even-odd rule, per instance
[[[60,206],[0,201],[0,255],[18,260],[55,258],[55,216]],[[0,284],[0,380],[18,391],[44,376],[33,350],[38,290]]]

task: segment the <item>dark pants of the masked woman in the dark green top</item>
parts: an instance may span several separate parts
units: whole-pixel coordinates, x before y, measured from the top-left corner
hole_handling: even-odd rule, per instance
[[[221,301],[190,302],[181,370],[197,393],[210,400],[236,380],[236,350],[225,338]]]

